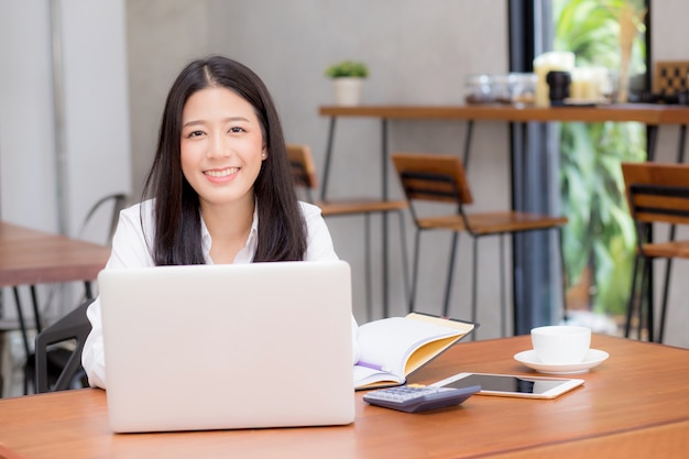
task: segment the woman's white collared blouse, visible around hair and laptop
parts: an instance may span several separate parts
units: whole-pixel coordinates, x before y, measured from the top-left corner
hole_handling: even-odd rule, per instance
[[[332,261],[338,260],[332,247],[332,239],[328,227],[320,215],[320,209],[307,203],[299,203],[307,228],[307,249],[304,261]],[[251,231],[247,244],[234,258],[234,263],[251,263],[256,251],[259,217],[254,208]],[[145,267],[154,266],[153,256],[149,247],[153,247],[153,200],[146,200],[134,205],[120,212],[117,230],[112,238],[112,252],[106,264],[106,269]],[[144,230],[145,229],[145,230]],[[210,233],[201,219],[204,259],[207,264],[212,264],[210,259]],[[145,238],[149,238],[146,243]],[[96,298],[88,307],[87,316],[92,329],[84,345],[81,364],[88,375],[91,386],[106,389],[106,357],[103,351],[102,323],[100,315],[100,300]],[[357,320],[352,316],[352,346],[353,362],[359,358],[357,347]]]

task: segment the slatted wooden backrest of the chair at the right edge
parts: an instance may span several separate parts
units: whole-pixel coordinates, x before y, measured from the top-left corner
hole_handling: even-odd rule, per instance
[[[622,174],[636,222],[689,225],[689,165],[622,163]]]

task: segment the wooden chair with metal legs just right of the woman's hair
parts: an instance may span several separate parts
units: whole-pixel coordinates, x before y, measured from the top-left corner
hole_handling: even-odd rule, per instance
[[[314,192],[318,188],[316,166],[310,147],[305,144],[287,144],[287,157],[292,167],[294,182],[297,187],[304,189],[306,200],[320,207],[324,217],[353,216],[364,217],[364,253],[365,253],[365,288],[367,288],[367,314],[372,316],[372,286],[371,286],[371,222],[373,214],[396,212],[400,218],[400,238],[404,264],[404,288],[407,291],[407,250],[406,236],[404,232],[404,210],[407,208],[405,200],[383,200],[379,198],[347,198],[328,199],[327,201],[314,199]],[[384,236],[385,237],[385,236]],[[383,244],[386,241],[383,240]],[[383,289],[387,291],[387,260],[383,256]],[[383,316],[387,316],[387,305],[383,305]]]

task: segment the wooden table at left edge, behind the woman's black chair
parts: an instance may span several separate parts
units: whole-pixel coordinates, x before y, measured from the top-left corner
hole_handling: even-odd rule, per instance
[[[26,326],[18,287],[29,285],[36,329],[41,330],[36,284],[88,281],[98,276],[110,249],[0,221],[0,287],[13,287],[24,350],[29,353]]]

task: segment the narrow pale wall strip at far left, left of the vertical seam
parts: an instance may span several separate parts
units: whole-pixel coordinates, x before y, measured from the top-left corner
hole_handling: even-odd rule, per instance
[[[1,8],[0,215],[56,230],[50,11],[45,2]]]

